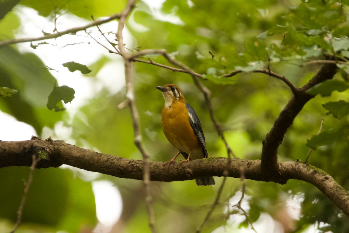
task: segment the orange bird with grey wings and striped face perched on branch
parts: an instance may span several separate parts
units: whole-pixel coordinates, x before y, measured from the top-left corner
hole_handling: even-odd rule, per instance
[[[162,91],[165,104],[161,112],[162,129],[169,142],[178,149],[178,153],[168,162],[174,163],[179,154],[185,158],[183,162],[207,158],[205,136],[201,123],[194,108],[187,103],[178,86],[170,83],[157,86]],[[195,180],[196,185],[214,185],[212,176],[201,177]]]

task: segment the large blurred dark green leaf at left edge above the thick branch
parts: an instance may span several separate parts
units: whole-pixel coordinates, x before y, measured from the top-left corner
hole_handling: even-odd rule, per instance
[[[0,86],[11,87],[18,92],[9,98],[0,97],[0,109],[33,126],[40,136],[45,126],[53,128],[62,119],[62,113],[49,111],[46,107],[47,96],[52,92],[56,79],[43,68],[45,64],[35,54],[20,53],[14,48],[0,48]]]

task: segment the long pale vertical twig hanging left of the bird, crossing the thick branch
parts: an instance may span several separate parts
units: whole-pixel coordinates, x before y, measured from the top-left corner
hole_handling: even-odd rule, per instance
[[[149,227],[152,233],[156,233],[155,229],[155,214],[153,210],[153,200],[150,193],[150,174],[149,174],[149,163],[148,158],[149,155],[144,150],[141,144],[141,134],[140,134],[140,119],[138,110],[136,107],[136,103],[134,101],[134,89],[133,89],[133,71],[132,71],[132,59],[130,59],[130,55],[127,53],[124,47],[124,37],[122,36],[122,30],[125,27],[125,21],[131,10],[135,6],[135,0],[128,0],[127,5],[124,10],[121,12],[118,29],[117,29],[117,37],[118,37],[118,47],[121,56],[125,60],[125,80],[126,80],[126,100],[128,103],[128,107],[131,110],[132,115],[132,125],[134,131],[134,143],[137,146],[138,150],[142,154],[143,158],[143,184],[146,190],[146,203],[147,203],[147,211],[149,216]],[[125,102],[126,103],[126,102]]]

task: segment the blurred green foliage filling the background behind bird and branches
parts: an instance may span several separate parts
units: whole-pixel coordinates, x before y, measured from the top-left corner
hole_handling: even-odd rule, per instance
[[[292,92],[281,80],[251,71],[269,67],[301,87],[321,67],[321,64],[301,64],[324,60],[324,54],[336,54],[338,60],[348,61],[348,3],[344,0],[167,0],[157,8],[137,1],[126,22],[134,42],[127,42],[126,47],[130,53],[144,48],[166,49],[177,60],[202,74],[203,84],[211,91],[214,115],[225,130],[232,150],[242,159],[260,159],[262,140]],[[22,0],[19,4],[37,10],[49,21],[52,13],[58,10],[60,13],[69,10],[84,19],[89,19],[91,14],[95,17],[107,16],[123,9],[126,1],[72,0],[46,4]],[[1,39],[14,38],[15,31],[20,29],[16,13],[8,9],[0,21]],[[108,52],[102,46],[100,49]],[[18,90],[11,97],[0,97],[1,111],[32,125],[39,136],[44,127],[54,129],[57,122],[63,121],[64,126],[72,131],[69,140],[77,146],[141,159],[133,144],[131,114],[127,108],[118,108],[124,100],[125,90],[115,94],[107,88],[97,88],[98,91],[91,93],[93,97],[75,115],[50,111],[46,103],[56,81],[52,74],[40,68],[45,65],[34,53],[33,50],[33,53],[23,54],[16,46],[0,48],[0,86]],[[82,55],[93,54],[87,51]],[[149,58],[171,65],[161,56]],[[96,58],[88,69],[97,75],[108,61],[106,57]],[[190,75],[144,63],[133,65],[135,101],[143,144],[151,155],[151,161],[168,161],[177,152],[161,129],[163,99],[155,86],[166,83],[176,83],[197,112],[209,156],[227,156],[224,144],[211,123],[203,95]],[[317,96],[304,106],[288,129],[278,156],[279,161],[304,160],[309,147],[316,149],[311,153],[309,162],[333,176],[348,190],[349,78],[347,65],[339,64],[338,67],[339,73],[334,80],[320,83],[310,90]],[[220,77],[233,70],[244,72],[229,78]],[[121,72],[116,70],[113,74]],[[113,74],[110,74],[111,79]],[[65,97],[58,100],[59,108],[62,107],[60,100]],[[324,119],[324,125],[316,136],[321,119]],[[28,172],[28,168],[0,169],[0,225],[7,221],[11,224],[15,222],[23,192],[22,179],[27,179]],[[124,232],[150,232],[142,183],[105,175],[98,179],[112,181],[121,192]],[[217,184],[214,187],[197,187],[194,181],[153,182],[151,190],[158,231],[194,232],[210,209],[222,181],[222,178],[215,179]],[[227,211],[226,203],[234,199],[240,187],[238,179],[227,179],[221,202],[203,232],[226,227],[230,220],[239,228],[249,227],[247,220],[235,218],[235,214],[243,216],[242,212]],[[280,185],[247,181],[246,187],[249,197],[246,197],[247,210],[253,222],[259,219],[261,213],[280,220],[280,211],[287,207],[289,200],[295,200],[301,209],[299,219],[294,220],[293,232],[302,232],[313,224],[318,226],[318,232],[348,232],[348,216],[308,183],[291,180]],[[237,203],[230,203],[234,204]],[[36,170],[24,206],[21,232],[33,229],[78,232],[84,226],[93,228],[96,224],[94,205],[89,182],[74,178],[68,170]]]

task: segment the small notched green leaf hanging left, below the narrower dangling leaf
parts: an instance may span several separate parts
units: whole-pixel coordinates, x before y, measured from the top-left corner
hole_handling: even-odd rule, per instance
[[[57,104],[63,100],[64,103],[72,102],[74,99],[75,90],[68,86],[60,86],[54,87],[51,94],[49,95],[49,99],[47,100],[47,108],[54,111],[63,111],[65,108],[60,108]]]

